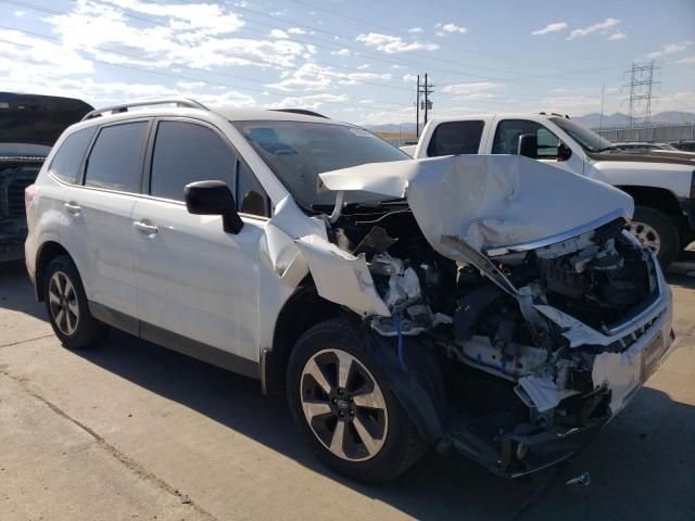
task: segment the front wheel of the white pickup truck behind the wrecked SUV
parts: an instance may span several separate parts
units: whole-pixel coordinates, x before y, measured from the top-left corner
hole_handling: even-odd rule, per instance
[[[675,224],[668,215],[648,206],[635,206],[630,232],[657,254],[664,268],[675,259],[681,247]]]

